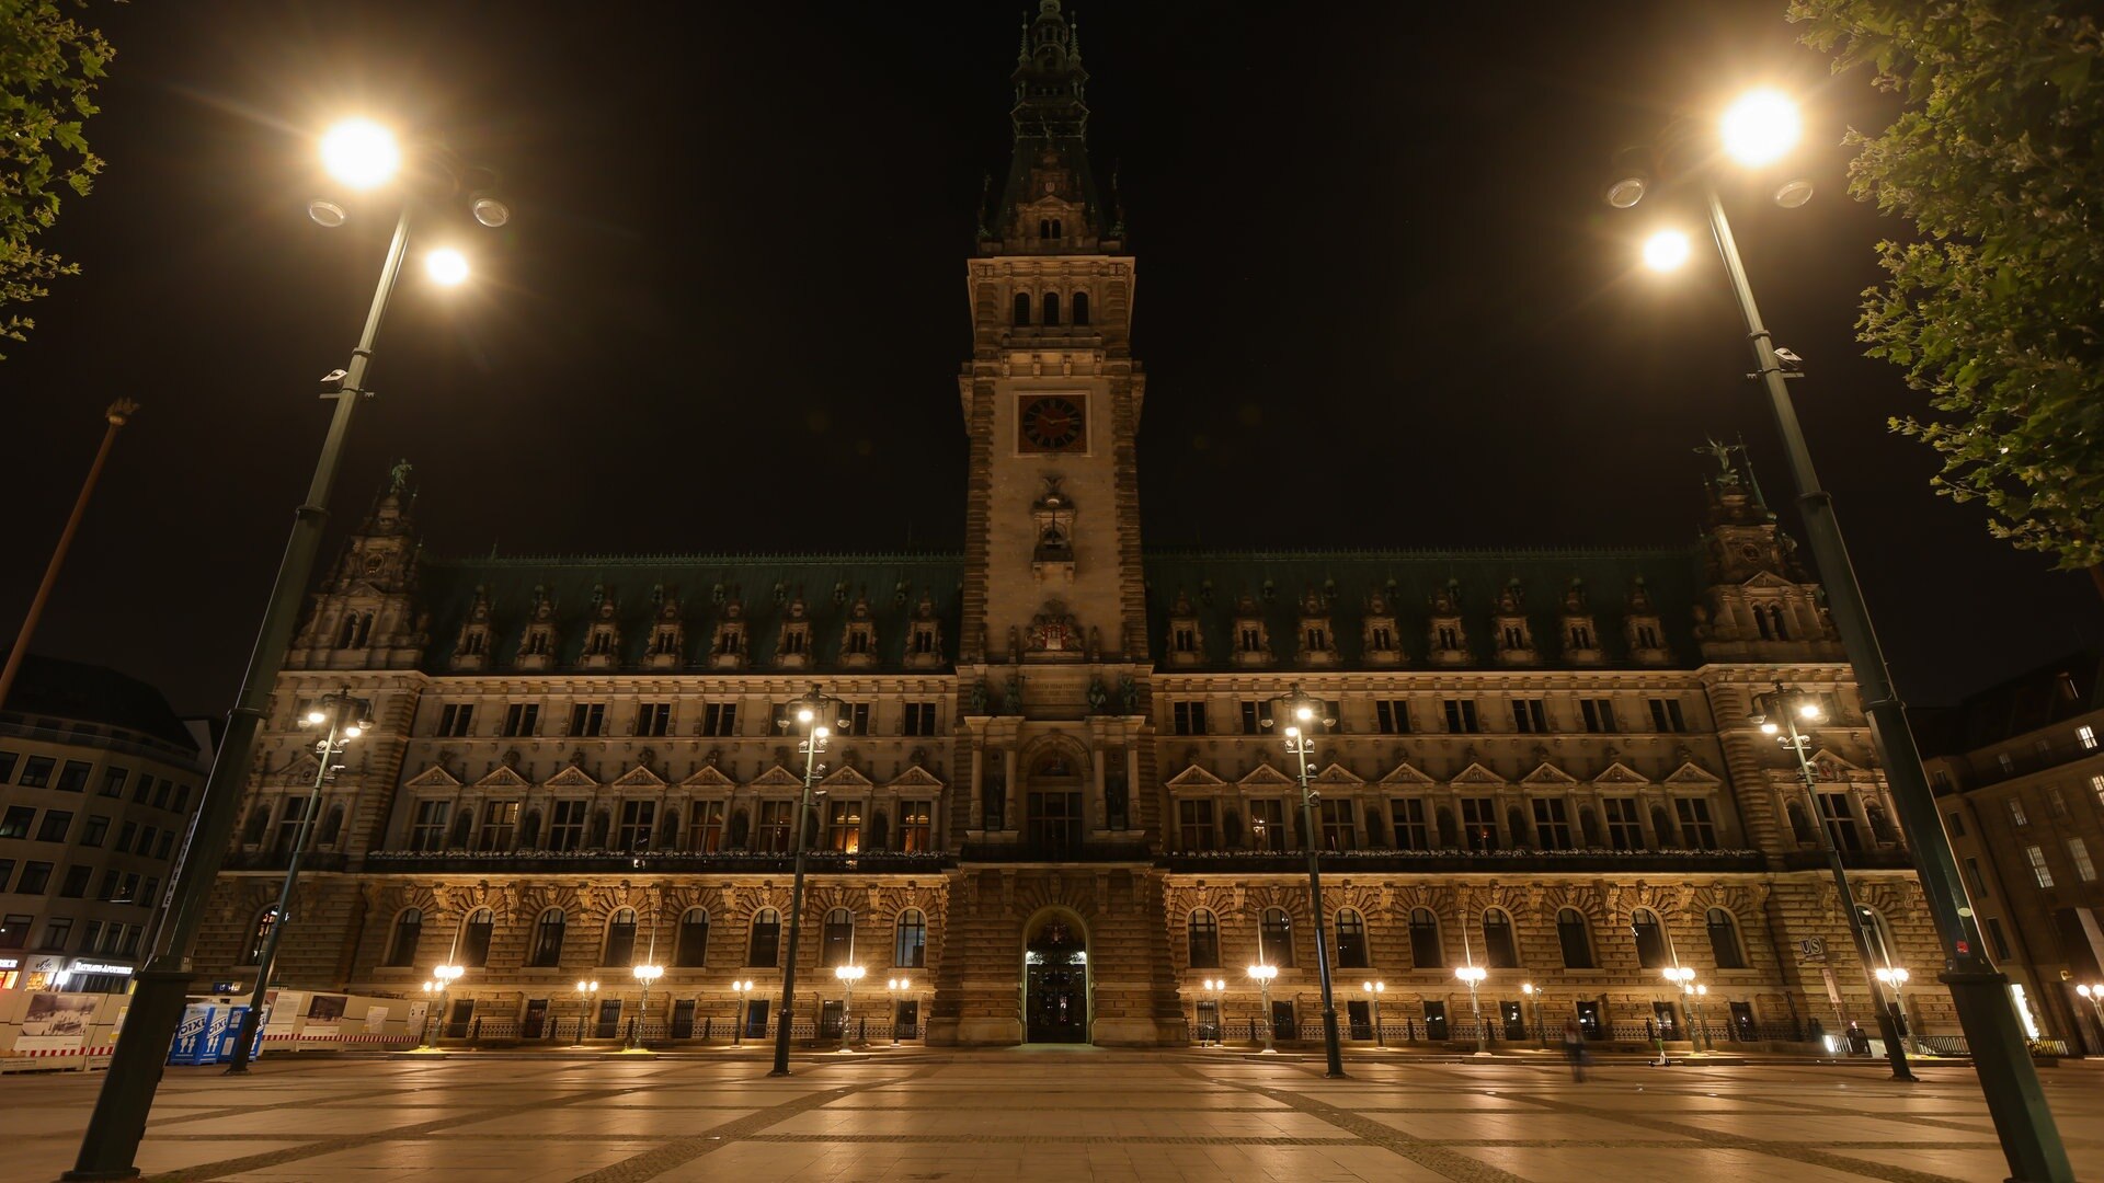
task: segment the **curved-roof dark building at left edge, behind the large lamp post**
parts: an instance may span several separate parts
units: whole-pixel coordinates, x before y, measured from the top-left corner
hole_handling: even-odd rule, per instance
[[[202,783],[160,690],[23,661],[0,711],[0,987],[128,989]]]

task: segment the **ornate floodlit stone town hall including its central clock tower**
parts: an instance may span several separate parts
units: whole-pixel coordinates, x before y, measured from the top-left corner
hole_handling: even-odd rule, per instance
[[[966,261],[964,552],[438,560],[414,518],[442,507],[398,476],[280,678],[200,979],[252,964],[316,773],[295,720],[339,688],[379,726],[326,789],[280,975],[412,994],[459,964],[452,1029],[463,1006],[539,1038],[619,1017],[644,960],[667,966],[650,1031],[764,1027],[797,827],[797,1021],[825,1023],[827,966],[854,962],[858,998],[907,981],[884,1017],[943,1044],[1313,1029],[1309,844],[1355,1029],[1380,981],[1389,1027],[1462,1031],[1464,964],[1494,1034],[1534,1021],[1509,1019],[1525,983],[1557,1029],[1683,1038],[1677,964],[1717,1038],[1833,1029],[1803,954],[1854,958],[1822,823],[1894,956],[1934,956],[1818,585],[1727,450],[1696,547],[1397,549],[1410,526],[1380,516],[1391,549],[1142,547],[1136,259],[1084,82],[1046,0]],[[1778,680],[1833,705],[1816,810],[1748,720]],[[781,707],[814,682],[848,720],[800,821]],[[1313,827],[1262,724],[1294,686],[1336,716]],[[1256,962],[1279,966],[1269,1015]],[[1860,981],[1843,964],[1839,1002],[1866,1019]]]

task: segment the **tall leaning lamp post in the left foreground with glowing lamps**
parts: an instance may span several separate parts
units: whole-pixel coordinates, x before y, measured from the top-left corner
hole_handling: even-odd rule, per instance
[[[80,1154],[65,1179],[130,1179],[139,1175],[133,1160],[139,1156],[139,1139],[145,1137],[145,1120],[154,1109],[154,1092],[160,1088],[162,1061],[168,1057],[168,1044],[175,1040],[175,1027],[183,1019],[189,996],[189,949],[204,922],[227,840],[234,836],[234,815],[255,764],[257,733],[269,714],[271,690],[284,667],[284,650],[299,625],[307,585],[313,581],[313,562],[328,524],[328,493],[337,482],[351,417],[360,400],[372,398],[372,392],[366,389],[366,370],[372,364],[372,343],[387,312],[387,297],[393,293],[402,259],[408,255],[410,223],[421,223],[425,215],[431,215],[433,229],[448,236],[465,219],[492,229],[511,221],[511,206],[494,194],[494,173],[469,168],[433,143],[419,143],[404,152],[387,128],[370,120],[337,124],[322,135],[320,158],[335,181],[347,189],[383,192],[393,185],[400,215],[358,345],[343,368],[322,379],[322,398],[337,402],[328,436],[322,440],[322,455],[316,461],[313,480],[307,484],[307,497],[295,512],[292,535],[278,562],[278,579],[263,608],[263,623],[257,627],[248,674],[242,678],[240,695],[227,714],[225,735],[204,781],[198,815],[191,819],[183,863],[177,867],[168,893],[168,920],[162,924],[147,964],[135,977],[124,1038],[118,1040],[116,1052],[109,1057],[109,1071],[103,1074],[95,1111],[80,1137]],[[307,206],[307,213],[324,227],[343,225],[351,217],[345,204],[330,198],[318,198]],[[425,269],[438,284],[459,284],[467,280],[467,255],[440,238],[425,255]]]

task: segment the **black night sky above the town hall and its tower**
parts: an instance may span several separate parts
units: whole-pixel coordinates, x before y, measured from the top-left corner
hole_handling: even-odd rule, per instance
[[[13,634],[101,436],[118,442],[40,653],[223,714],[379,272],[391,210],[313,164],[368,114],[499,168],[515,219],[433,227],[465,288],[404,276],[337,488],[417,465],[440,556],[957,549],[964,261],[1008,166],[1010,4],[93,4],[109,160],[46,244],[86,269],[0,352]],[[1607,158],[1679,107],[1809,101],[1788,171],[1727,194],[1902,693],[1940,703],[2100,638],[2085,575],[1927,488],[1917,406],[1852,341],[1873,244],[1847,124],[1778,0],[1081,4],[1098,177],[1138,257],[1149,545],[1692,541],[1704,436],[1786,474],[1723,269],[1658,278],[1673,210],[1610,210]],[[997,185],[995,185],[997,187]],[[307,221],[337,196],[343,229]],[[473,229],[473,234],[469,234]],[[1700,229],[1690,223],[1690,229]],[[1786,514],[1786,520],[1793,520]],[[1799,535],[1801,537],[1801,535]],[[337,556],[337,543],[324,558]],[[0,640],[4,644],[4,640]]]

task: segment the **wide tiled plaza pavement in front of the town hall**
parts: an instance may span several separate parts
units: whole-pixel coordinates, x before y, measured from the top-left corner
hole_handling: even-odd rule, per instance
[[[762,1059],[265,1059],[168,1069],[160,1179],[431,1183],[1258,1179],[2003,1179],[1967,1069],[1429,1063],[1241,1052]],[[2104,1179],[2104,1071],[2045,1071],[2077,1175]],[[0,1078],[0,1183],[72,1164],[101,1076]]]

